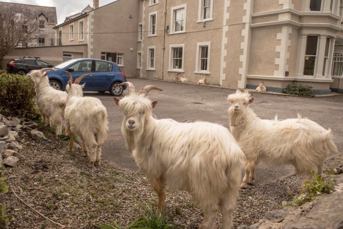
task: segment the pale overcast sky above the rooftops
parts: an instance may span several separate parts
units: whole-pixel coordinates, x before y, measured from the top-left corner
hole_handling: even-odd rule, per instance
[[[79,13],[88,4],[93,7],[93,0],[0,0],[31,5],[54,6],[57,11],[58,24],[63,23],[67,16]],[[116,0],[99,0],[99,6]]]

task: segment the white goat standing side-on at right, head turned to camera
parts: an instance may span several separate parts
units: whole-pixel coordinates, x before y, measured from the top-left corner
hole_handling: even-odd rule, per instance
[[[260,119],[249,107],[254,98],[248,91],[237,90],[227,100],[231,133],[247,158],[242,188],[253,183],[261,160],[294,165],[297,174],[310,178],[310,170],[320,174],[327,154],[337,152],[331,130],[311,120],[300,115],[282,121]]]

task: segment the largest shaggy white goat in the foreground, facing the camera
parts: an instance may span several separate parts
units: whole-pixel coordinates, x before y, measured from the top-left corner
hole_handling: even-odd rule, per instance
[[[122,85],[128,85],[129,95],[114,101],[124,114],[126,148],[157,192],[157,207],[165,207],[166,182],[192,194],[205,212],[199,229],[212,229],[218,208],[223,228],[231,228],[245,155],[230,132],[212,123],[155,119],[151,112],[157,101],[146,97],[150,90],[161,89],[149,85],[137,94],[132,83]]]

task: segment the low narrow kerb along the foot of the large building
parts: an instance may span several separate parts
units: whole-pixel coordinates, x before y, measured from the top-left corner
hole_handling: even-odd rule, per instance
[[[145,79],[145,78],[140,78],[140,77],[126,77],[126,78],[135,78],[135,79]],[[190,85],[196,85],[196,86],[200,86],[200,87],[217,87],[217,88],[223,88],[223,89],[229,89],[229,90],[236,90],[236,89],[232,89],[232,88],[228,88],[228,87],[223,87],[220,85],[204,85],[204,84],[196,84],[196,83],[190,83],[190,82],[175,82],[173,80],[167,80],[167,79],[159,79],[159,78],[154,78],[153,80],[157,80],[157,81],[166,81],[166,82],[172,82],[172,83],[182,83],[182,84],[190,84]],[[296,96],[296,95],[289,95],[289,94],[285,94],[285,93],[279,93],[279,92],[257,92],[253,89],[247,89],[250,92],[253,93],[259,93],[259,94],[268,94],[268,95],[276,95],[276,96],[290,96],[290,97],[301,97],[301,96]],[[343,96],[343,94],[340,93],[331,93],[328,95],[315,95],[315,97],[306,97],[306,98],[322,98],[322,97],[335,97],[335,96]]]

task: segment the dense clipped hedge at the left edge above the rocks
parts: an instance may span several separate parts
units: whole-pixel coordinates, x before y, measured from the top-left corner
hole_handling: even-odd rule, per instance
[[[4,115],[37,119],[34,85],[29,77],[0,74],[0,110]]]

